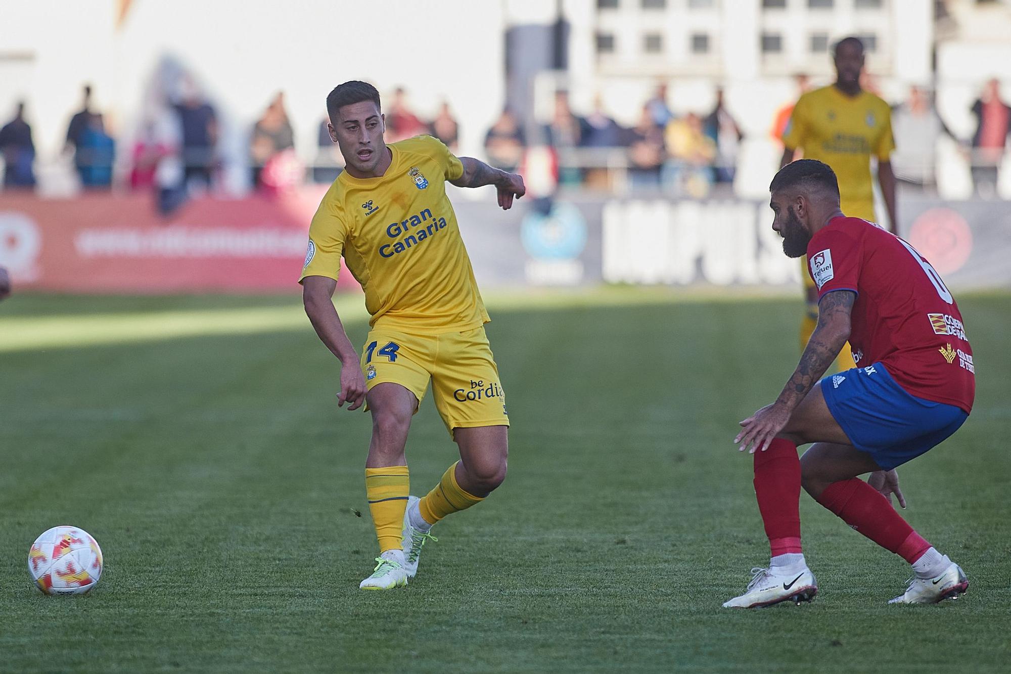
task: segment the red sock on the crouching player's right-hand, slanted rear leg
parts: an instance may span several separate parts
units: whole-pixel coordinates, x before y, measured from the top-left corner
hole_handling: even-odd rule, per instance
[[[930,549],[877,489],[859,478],[834,482],[818,503],[851,527],[910,564]]]

